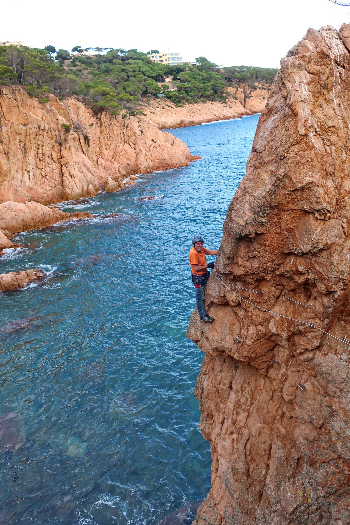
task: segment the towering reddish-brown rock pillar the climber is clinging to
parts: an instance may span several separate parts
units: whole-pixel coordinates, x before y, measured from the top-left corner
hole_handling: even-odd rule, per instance
[[[197,525],[350,523],[349,36],[309,29],[281,60],[208,281],[215,321],[190,319],[213,457]]]

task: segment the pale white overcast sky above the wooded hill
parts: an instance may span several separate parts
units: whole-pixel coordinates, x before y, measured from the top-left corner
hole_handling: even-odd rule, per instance
[[[279,67],[280,58],[308,27],[350,22],[350,7],[328,0],[224,0],[213,2],[2,3],[0,40],[31,47],[169,47],[186,59],[205,56],[223,66]]]

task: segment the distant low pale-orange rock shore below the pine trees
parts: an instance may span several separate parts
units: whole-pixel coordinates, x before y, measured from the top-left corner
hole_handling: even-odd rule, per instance
[[[183,107],[176,107],[167,99],[152,100],[143,104],[142,110],[145,113],[143,120],[160,129],[184,128],[203,122],[237,119],[252,114],[251,111],[243,108],[239,100],[235,99],[229,99],[225,104],[206,102],[186,104]]]

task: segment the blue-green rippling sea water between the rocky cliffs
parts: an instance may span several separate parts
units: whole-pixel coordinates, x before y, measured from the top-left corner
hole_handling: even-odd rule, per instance
[[[258,118],[171,130],[203,159],[62,203],[118,215],[19,234],[30,248],[0,259],[51,272],[0,297],[0,432],[20,445],[0,442],[0,524],[156,525],[206,496],[187,257],[195,233],[218,248]]]

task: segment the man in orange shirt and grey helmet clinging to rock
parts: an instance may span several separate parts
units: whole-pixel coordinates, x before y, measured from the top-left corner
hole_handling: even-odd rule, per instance
[[[201,235],[196,235],[192,239],[193,247],[189,252],[188,260],[191,267],[192,282],[195,285],[196,304],[199,317],[201,321],[211,323],[214,321],[213,317],[208,316],[204,308],[204,290],[209,279],[208,268],[213,270],[215,262],[207,264],[206,255],[216,255],[218,250],[208,250],[203,246],[204,238]]]

